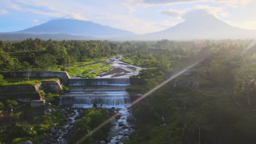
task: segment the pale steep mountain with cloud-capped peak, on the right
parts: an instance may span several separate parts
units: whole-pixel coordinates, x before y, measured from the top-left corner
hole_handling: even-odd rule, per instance
[[[205,11],[185,16],[186,20],[163,31],[144,34],[140,39],[246,39],[256,38],[256,31],[234,27]]]

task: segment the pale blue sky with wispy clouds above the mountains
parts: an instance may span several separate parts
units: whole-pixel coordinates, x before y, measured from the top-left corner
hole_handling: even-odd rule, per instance
[[[0,0],[0,32],[77,19],[145,34],[175,26],[198,9],[232,26],[256,30],[256,0]]]

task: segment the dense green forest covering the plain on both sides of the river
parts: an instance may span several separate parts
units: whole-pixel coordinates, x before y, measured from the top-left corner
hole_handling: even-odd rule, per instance
[[[254,41],[249,39],[0,41],[0,71],[4,73],[28,68],[69,70],[75,76],[80,73],[74,72],[79,69],[72,69],[75,65],[123,55],[121,61],[147,68],[139,75],[132,76],[144,79],[144,85],[126,88],[128,92],[143,94],[168,79],[173,71],[183,70],[193,64],[195,59],[203,58],[190,69],[190,75],[178,76],[175,81],[168,82],[131,107],[133,116],[137,119],[136,131],[124,143],[256,143],[256,46],[253,44]],[[214,86],[174,87],[183,81],[197,85],[214,83]],[[0,82],[6,82],[3,76],[0,76]],[[49,98],[52,97],[53,95]],[[10,103],[0,102],[0,111],[2,112],[4,105],[11,105]],[[104,110],[91,109],[84,113],[84,117],[75,125],[77,130],[79,127],[95,128],[96,124],[90,123],[90,118],[107,118]],[[61,122],[63,116],[56,116],[56,121]],[[39,120],[48,126],[50,121],[55,121],[53,117],[46,116]],[[99,121],[101,122],[103,121]],[[12,133],[0,131],[0,136],[18,136],[15,132],[17,129],[26,131],[21,125],[16,123],[15,127],[9,126]],[[43,125],[40,127],[42,128],[38,133],[42,134],[43,128],[49,130]],[[79,139],[81,136],[78,133],[79,131],[75,131],[69,142]],[[103,132],[100,131],[92,137],[99,137],[101,133]],[[36,132],[28,133],[26,137],[35,135]],[[12,137],[13,140],[15,138]],[[5,139],[1,141],[8,142]]]

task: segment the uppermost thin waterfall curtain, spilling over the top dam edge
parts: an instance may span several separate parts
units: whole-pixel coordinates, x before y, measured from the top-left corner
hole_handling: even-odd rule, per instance
[[[69,86],[95,86],[95,85],[112,85],[128,86],[129,78],[106,78],[106,79],[69,79]]]

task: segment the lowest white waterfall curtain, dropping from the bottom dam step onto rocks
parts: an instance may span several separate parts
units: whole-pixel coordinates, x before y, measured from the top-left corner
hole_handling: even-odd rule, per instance
[[[96,104],[98,107],[123,108],[131,103],[130,97],[60,97],[60,105],[88,108]]]

